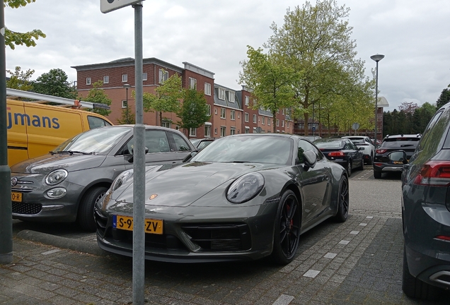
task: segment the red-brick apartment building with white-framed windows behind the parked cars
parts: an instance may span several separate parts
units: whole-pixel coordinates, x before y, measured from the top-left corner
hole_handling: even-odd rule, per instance
[[[154,93],[154,90],[174,74],[182,79],[183,88],[197,88],[204,93],[209,105],[209,121],[204,126],[183,131],[190,138],[219,138],[237,133],[271,133],[273,124],[277,133],[293,133],[294,121],[284,109],[277,113],[274,121],[272,114],[265,109],[252,109],[254,99],[245,86],[242,90],[233,90],[214,83],[214,73],[188,62],[183,62],[183,68],[169,64],[156,58],[143,59],[142,85],[144,92]],[[117,124],[122,117],[122,111],[127,108],[129,114],[135,113],[135,103],[132,91],[135,88],[134,59],[117,59],[101,64],[72,66],[77,73],[77,90],[86,97],[93,83],[103,81],[101,87],[112,100],[111,113],[108,119]],[[127,90],[124,85],[130,85]],[[173,113],[163,113],[163,122],[159,121],[156,112],[144,112],[144,124],[177,128],[178,117]]]

